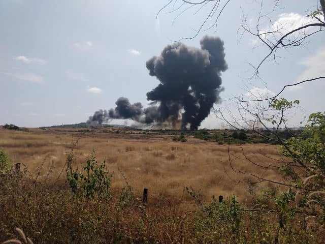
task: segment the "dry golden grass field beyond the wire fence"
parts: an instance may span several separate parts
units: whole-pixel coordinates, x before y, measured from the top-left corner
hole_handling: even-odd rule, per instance
[[[267,181],[251,184],[258,180],[249,173],[281,180],[276,169],[266,170],[254,165],[277,164],[281,158],[275,145],[219,145],[190,136],[186,142],[175,142],[172,135],[121,128],[80,131],[71,128],[0,129],[0,148],[6,150],[14,163],[25,165],[28,174],[37,180],[55,182],[58,178],[65,179],[67,155],[72,143],[79,138],[74,148],[74,167],[81,169],[94,149],[96,159],[99,162],[106,159],[108,169],[114,173],[113,188],[125,185],[124,175],[135,190],[148,188],[149,196],[154,193],[189,198],[184,190],[192,187],[206,200],[211,200],[212,195],[235,195],[244,203],[249,201],[248,191],[252,187],[256,193],[276,187]]]

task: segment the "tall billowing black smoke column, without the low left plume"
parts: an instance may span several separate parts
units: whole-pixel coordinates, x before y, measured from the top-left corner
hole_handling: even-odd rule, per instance
[[[205,36],[201,49],[182,43],[168,45],[160,56],[150,58],[147,69],[160,84],[147,93],[147,99],[159,104],[159,120],[182,113],[182,127],[197,130],[223,90],[220,74],[228,69],[224,60],[223,41]]]

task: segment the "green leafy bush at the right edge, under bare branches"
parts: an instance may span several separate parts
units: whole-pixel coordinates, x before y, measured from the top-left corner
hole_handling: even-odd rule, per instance
[[[325,220],[323,213],[325,209],[325,113],[310,114],[305,130],[300,136],[284,140],[281,153],[305,169],[302,175],[293,164],[281,168],[284,176],[289,177],[294,186],[290,190],[296,194],[297,206],[304,207],[303,211],[306,214],[310,210],[317,212],[318,220],[323,222]]]

